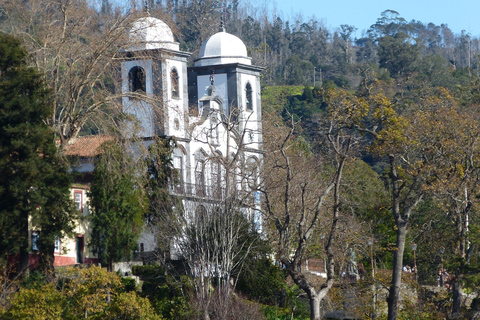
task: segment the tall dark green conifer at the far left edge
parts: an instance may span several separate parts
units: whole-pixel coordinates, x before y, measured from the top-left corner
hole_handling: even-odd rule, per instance
[[[29,229],[40,232],[41,265],[53,270],[55,237],[73,230],[67,165],[45,120],[53,108],[20,41],[0,34],[0,257],[28,266]]]

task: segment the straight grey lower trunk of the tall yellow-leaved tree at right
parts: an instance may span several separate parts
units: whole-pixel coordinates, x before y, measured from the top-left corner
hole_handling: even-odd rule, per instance
[[[400,300],[400,286],[402,284],[403,252],[405,250],[405,239],[407,226],[404,223],[397,224],[397,252],[393,258],[392,285],[388,296],[388,320],[397,320],[398,302]]]

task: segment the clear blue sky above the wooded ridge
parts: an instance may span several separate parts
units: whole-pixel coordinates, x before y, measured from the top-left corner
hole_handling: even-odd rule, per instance
[[[265,1],[265,2],[263,2]],[[395,10],[407,21],[418,20],[436,25],[447,24],[455,34],[462,30],[472,36],[480,37],[480,1],[479,0],[259,0],[268,5],[273,12],[274,6],[279,16],[293,21],[296,14],[304,20],[315,16],[331,30],[342,24],[358,28],[356,36],[362,35],[374,24],[385,10]],[[355,36],[355,34],[353,35]]]

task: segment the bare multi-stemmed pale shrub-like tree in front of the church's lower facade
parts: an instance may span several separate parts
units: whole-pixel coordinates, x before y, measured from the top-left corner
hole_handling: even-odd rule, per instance
[[[244,208],[232,198],[220,203],[188,202],[184,210],[187,221],[178,245],[193,279],[198,307],[209,319],[215,295],[224,300],[223,313],[228,315],[233,272],[241,268],[258,235]]]

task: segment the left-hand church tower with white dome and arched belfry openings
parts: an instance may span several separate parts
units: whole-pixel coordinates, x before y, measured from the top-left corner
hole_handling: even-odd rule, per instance
[[[122,62],[122,103],[138,126],[131,132],[144,139],[184,136],[188,111],[187,58],[163,21],[144,17],[130,30],[130,48]]]

